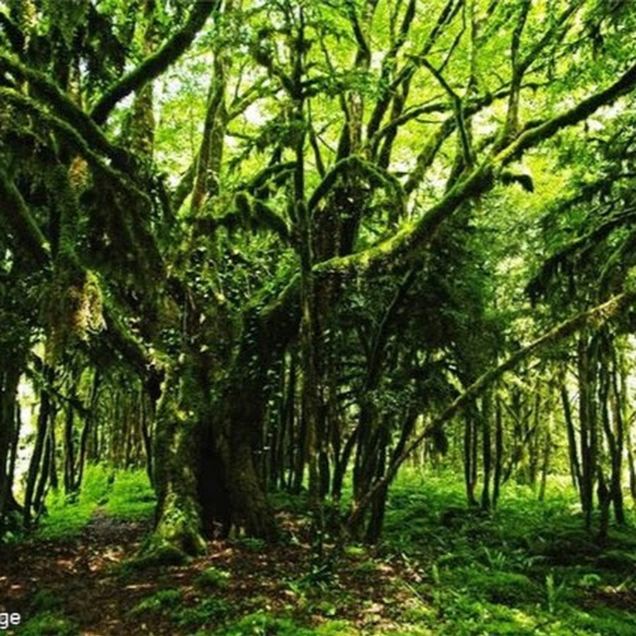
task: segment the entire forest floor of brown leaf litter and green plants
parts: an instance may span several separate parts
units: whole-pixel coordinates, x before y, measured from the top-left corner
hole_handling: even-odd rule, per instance
[[[140,567],[151,497],[117,479],[127,499],[88,488],[83,501],[53,502],[35,535],[0,546],[0,616],[22,618],[3,633],[636,634],[631,510],[600,544],[569,495],[537,502],[518,489],[484,515],[448,478],[411,476],[393,490],[382,544],[347,546],[334,567],[317,561],[305,502],[290,497],[275,502],[276,545],[212,541],[186,565]]]

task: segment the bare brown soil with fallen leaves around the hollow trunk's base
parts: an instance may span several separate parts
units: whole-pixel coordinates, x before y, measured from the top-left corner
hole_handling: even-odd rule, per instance
[[[350,620],[373,633],[397,628],[400,611],[415,601],[408,567],[370,553],[343,555],[337,573],[316,571],[312,549],[295,529],[291,541],[275,546],[249,541],[212,541],[205,557],[182,566],[126,567],[148,531],[148,524],[124,522],[98,510],[83,534],[66,542],[27,541],[0,553],[0,612],[19,612],[23,623],[54,608],[78,625],[78,634],[178,636],[197,629],[223,633],[228,620],[255,611],[291,616],[305,625]],[[214,566],[230,573],[227,585],[201,589],[196,577]],[[232,616],[180,626],[166,610],[134,611],[162,589],[178,589],[182,607],[196,607],[214,596],[229,604]],[[421,599],[420,599],[421,601]],[[11,633],[8,631],[6,633]],[[19,633],[19,632],[16,632]]]

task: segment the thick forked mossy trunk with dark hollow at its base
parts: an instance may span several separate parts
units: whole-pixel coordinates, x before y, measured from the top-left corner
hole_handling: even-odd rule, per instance
[[[266,371],[298,333],[298,285],[245,318],[225,389],[211,401],[211,365],[184,353],[167,371],[158,404],[154,484],[158,504],[151,548],[200,553],[204,537],[230,522],[247,534],[276,534],[254,466],[265,413]]]

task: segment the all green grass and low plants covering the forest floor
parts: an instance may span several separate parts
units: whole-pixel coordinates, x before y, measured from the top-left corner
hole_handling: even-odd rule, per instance
[[[324,577],[320,564],[313,562],[310,572],[283,577],[285,594],[289,594],[285,604],[272,603],[276,599],[266,596],[265,589],[263,596],[235,602],[235,573],[206,564],[206,569],[192,572],[192,585],[162,584],[162,589],[141,599],[129,617],[159,618],[172,625],[175,633],[217,636],[634,633],[636,608],[629,603],[636,594],[632,502],[625,502],[629,524],[613,527],[601,545],[594,533],[584,530],[577,497],[567,481],[551,480],[543,502],[531,488],[507,484],[497,510],[490,514],[467,508],[464,499],[461,476],[403,471],[387,503],[381,545],[345,547],[346,562],[342,563],[353,581],[361,582],[360,589],[363,582],[386,572],[387,565],[400,566],[387,588],[391,598],[382,599],[389,614],[382,626],[367,625],[363,613],[353,620],[342,611],[352,601],[365,599],[355,596],[355,583],[353,587],[338,583],[337,564]],[[302,496],[294,500],[285,495],[279,504],[298,512],[306,510],[304,501]],[[146,518],[154,497],[143,471],[115,473],[90,466],[75,500],[52,495],[48,505],[49,515],[37,535],[69,538],[81,532],[98,507],[112,517]],[[248,537],[231,545],[243,553],[267,549],[260,539]],[[172,562],[166,560],[163,565],[167,563]],[[134,563],[126,567],[134,575]],[[404,603],[397,600],[400,591],[408,599]],[[49,590],[33,596],[29,615],[19,633],[76,633],[59,595]]]

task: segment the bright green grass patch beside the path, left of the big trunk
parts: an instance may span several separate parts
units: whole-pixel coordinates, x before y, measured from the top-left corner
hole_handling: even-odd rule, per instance
[[[65,497],[59,490],[47,497],[47,514],[35,538],[72,539],[84,529],[95,510],[117,519],[145,519],[154,509],[155,495],[143,470],[114,471],[102,464],[86,466],[81,491]]]

